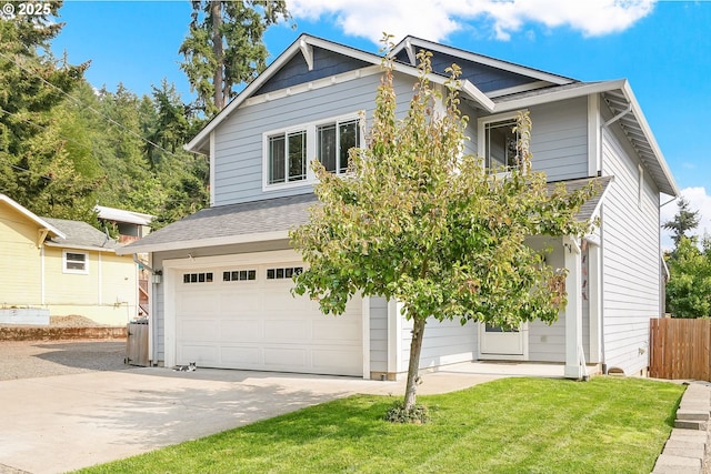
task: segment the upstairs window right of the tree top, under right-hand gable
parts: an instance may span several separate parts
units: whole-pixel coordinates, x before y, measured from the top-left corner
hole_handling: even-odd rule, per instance
[[[479,154],[489,170],[505,171],[519,165],[517,115],[479,120]]]

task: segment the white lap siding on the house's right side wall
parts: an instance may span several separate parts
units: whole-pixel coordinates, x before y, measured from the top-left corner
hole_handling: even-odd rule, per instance
[[[602,206],[603,340],[608,369],[627,374],[649,364],[649,320],[660,315],[659,190],[617,125],[603,130],[604,175],[614,175]]]

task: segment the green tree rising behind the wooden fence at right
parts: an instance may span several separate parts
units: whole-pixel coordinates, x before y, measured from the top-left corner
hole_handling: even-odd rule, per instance
[[[711,317],[711,240],[681,236],[668,256],[667,309],[673,317]]]

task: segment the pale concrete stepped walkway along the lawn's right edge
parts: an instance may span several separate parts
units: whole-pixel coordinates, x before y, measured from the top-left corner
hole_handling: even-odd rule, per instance
[[[687,387],[674,428],[657,458],[652,474],[710,473],[709,414],[711,387],[707,382],[692,382]]]

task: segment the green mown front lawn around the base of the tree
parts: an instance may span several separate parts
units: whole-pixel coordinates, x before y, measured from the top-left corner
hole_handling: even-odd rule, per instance
[[[681,385],[640,379],[504,379],[420,396],[424,425],[382,421],[358,395],[87,473],[649,473]]]

